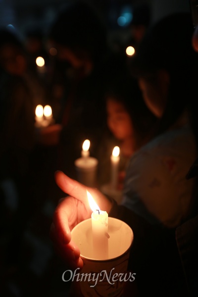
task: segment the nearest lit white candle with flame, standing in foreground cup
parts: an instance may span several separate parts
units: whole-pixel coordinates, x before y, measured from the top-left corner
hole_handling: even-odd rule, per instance
[[[87,191],[92,213],[93,257],[98,260],[108,259],[108,214],[99,209],[92,195]]]

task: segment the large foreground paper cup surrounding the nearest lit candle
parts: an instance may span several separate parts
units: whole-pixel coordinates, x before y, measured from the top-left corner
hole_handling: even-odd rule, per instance
[[[133,231],[124,222],[108,218],[108,258],[97,260],[92,257],[92,220],[88,219],[71,232],[73,242],[80,248],[84,266],[74,281],[79,282],[84,297],[120,297],[124,283],[135,277],[127,274]]]

